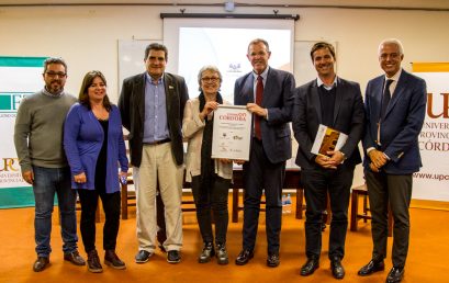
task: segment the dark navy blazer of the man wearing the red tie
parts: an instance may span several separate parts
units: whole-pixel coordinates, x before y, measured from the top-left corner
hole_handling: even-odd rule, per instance
[[[265,152],[272,163],[285,161],[292,156],[289,122],[291,121],[294,86],[293,75],[269,68],[261,105],[268,110],[268,120],[260,121],[260,131]],[[254,103],[254,77],[252,72],[249,72],[235,82],[234,104]],[[251,128],[254,131],[254,127]]]

